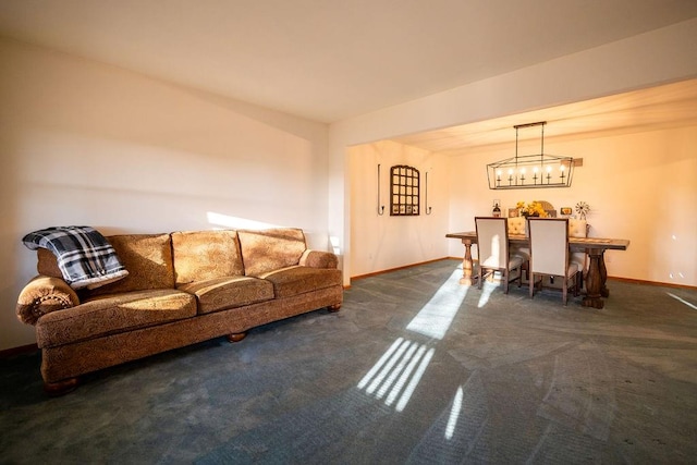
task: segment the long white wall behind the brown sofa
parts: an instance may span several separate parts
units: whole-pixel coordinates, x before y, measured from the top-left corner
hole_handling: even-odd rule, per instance
[[[29,231],[299,227],[328,248],[328,126],[0,40],[0,350],[35,273]]]

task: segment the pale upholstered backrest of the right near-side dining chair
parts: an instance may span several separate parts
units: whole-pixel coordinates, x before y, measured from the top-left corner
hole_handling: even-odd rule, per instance
[[[568,219],[528,218],[530,271],[566,276],[568,268]]]

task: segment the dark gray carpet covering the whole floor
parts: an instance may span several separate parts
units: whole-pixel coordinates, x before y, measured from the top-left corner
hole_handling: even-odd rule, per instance
[[[41,391],[0,360],[0,463],[695,463],[697,291],[610,281],[602,310],[457,284],[457,260]]]

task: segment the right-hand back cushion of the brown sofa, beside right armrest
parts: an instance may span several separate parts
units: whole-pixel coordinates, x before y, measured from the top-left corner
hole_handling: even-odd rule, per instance
[[[278,228],[262,231],[237,231],[244,273],[258,277],[299,262],[307,248],[303,230]]]

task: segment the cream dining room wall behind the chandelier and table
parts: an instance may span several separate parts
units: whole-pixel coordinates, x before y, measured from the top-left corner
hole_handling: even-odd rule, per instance
[[[697,126],[545,143],[548,154],[583,158],[571,187],[489,189],[486,164],[510,158],[511,147],[450,158],[451,230],[473,231],[474,217],[488,215],[493,198],[504,211],[519,200],[557,209],[585,200],[592,236],[631,241],[626,252],[606,254],[609,276],[697,286]],[[450,255],[463,253],[452,240]]]

